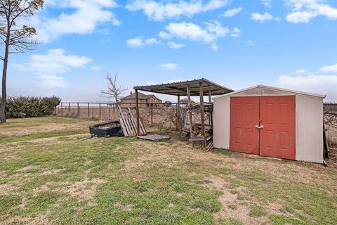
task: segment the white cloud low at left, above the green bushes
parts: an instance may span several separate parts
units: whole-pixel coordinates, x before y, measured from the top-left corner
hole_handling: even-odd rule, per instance
[[[30,56],[29,63],[24,65],[13,63],[11,65],[18,70],[38,75],[37,78],[44,86],[65,87],[70,84],[58,75],[70,72],[74,68],[83,68],[91,62],[93,62],[91,58],[67,54],[64,49],[50,49],[46,54]]]

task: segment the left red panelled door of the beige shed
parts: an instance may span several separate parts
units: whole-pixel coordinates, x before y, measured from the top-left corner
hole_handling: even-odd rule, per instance
[[[230,149],[258,155],[258,97],[230,98]]]

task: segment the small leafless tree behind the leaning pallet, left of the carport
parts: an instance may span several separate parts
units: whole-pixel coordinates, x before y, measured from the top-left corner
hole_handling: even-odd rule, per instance
[[[117,83],[117,73],[114,76],[107,73],[105,74],[105,79],[107,79],[107,90],[100,91],[100,96],[112,98],[115,103],[118,103],[128,87],[121,86]]]

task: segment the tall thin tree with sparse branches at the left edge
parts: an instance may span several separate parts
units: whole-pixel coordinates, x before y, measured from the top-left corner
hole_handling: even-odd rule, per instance
[[[34,37],[37,32],[34,27],[22,25],[24,20],[34,15],[34,11],[44,6],[43,0],[0,0],[0,59],[4,61],[2,70],[2,92],[0,105],[0,122],[6,122],[6,77],[8,56],[11,53],[25,53],[31,51],[37,44]]]

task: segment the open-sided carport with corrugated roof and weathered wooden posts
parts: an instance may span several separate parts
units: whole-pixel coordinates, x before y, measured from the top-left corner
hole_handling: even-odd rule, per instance
[[[201,136],[205,136],[205,121],[204,121],[204,96],[209,96],[209,103],[211,103],[211,96],[218,96],[228,94],[232,92],[232,89],[228,89],[225,86],[216,84],[208,79],[194,79],[187,80],[185,82],[174,82],[168,84],[155,84],[148,86],[135,86],[136,94],[136,120],[137,120],[137,134],[140,134],[140,120],[139,120],[139,103],[138,103],[138,91],[148,91],[157,94],[168,94],[178,97],[177,111],[178,121],[180,121],[180,96],[187,96],[188,105],[191,103],[191,96],[199,96],[200,98],[200,112],[201,112]],[[192,121],[192,112],[188,110],[190,121]],[[178,123],[178,130],[180,131],[180,122]],[[192,122],[190,123],[190,131],[192,134]],[[202,141],[205,147],[205,141]]]

